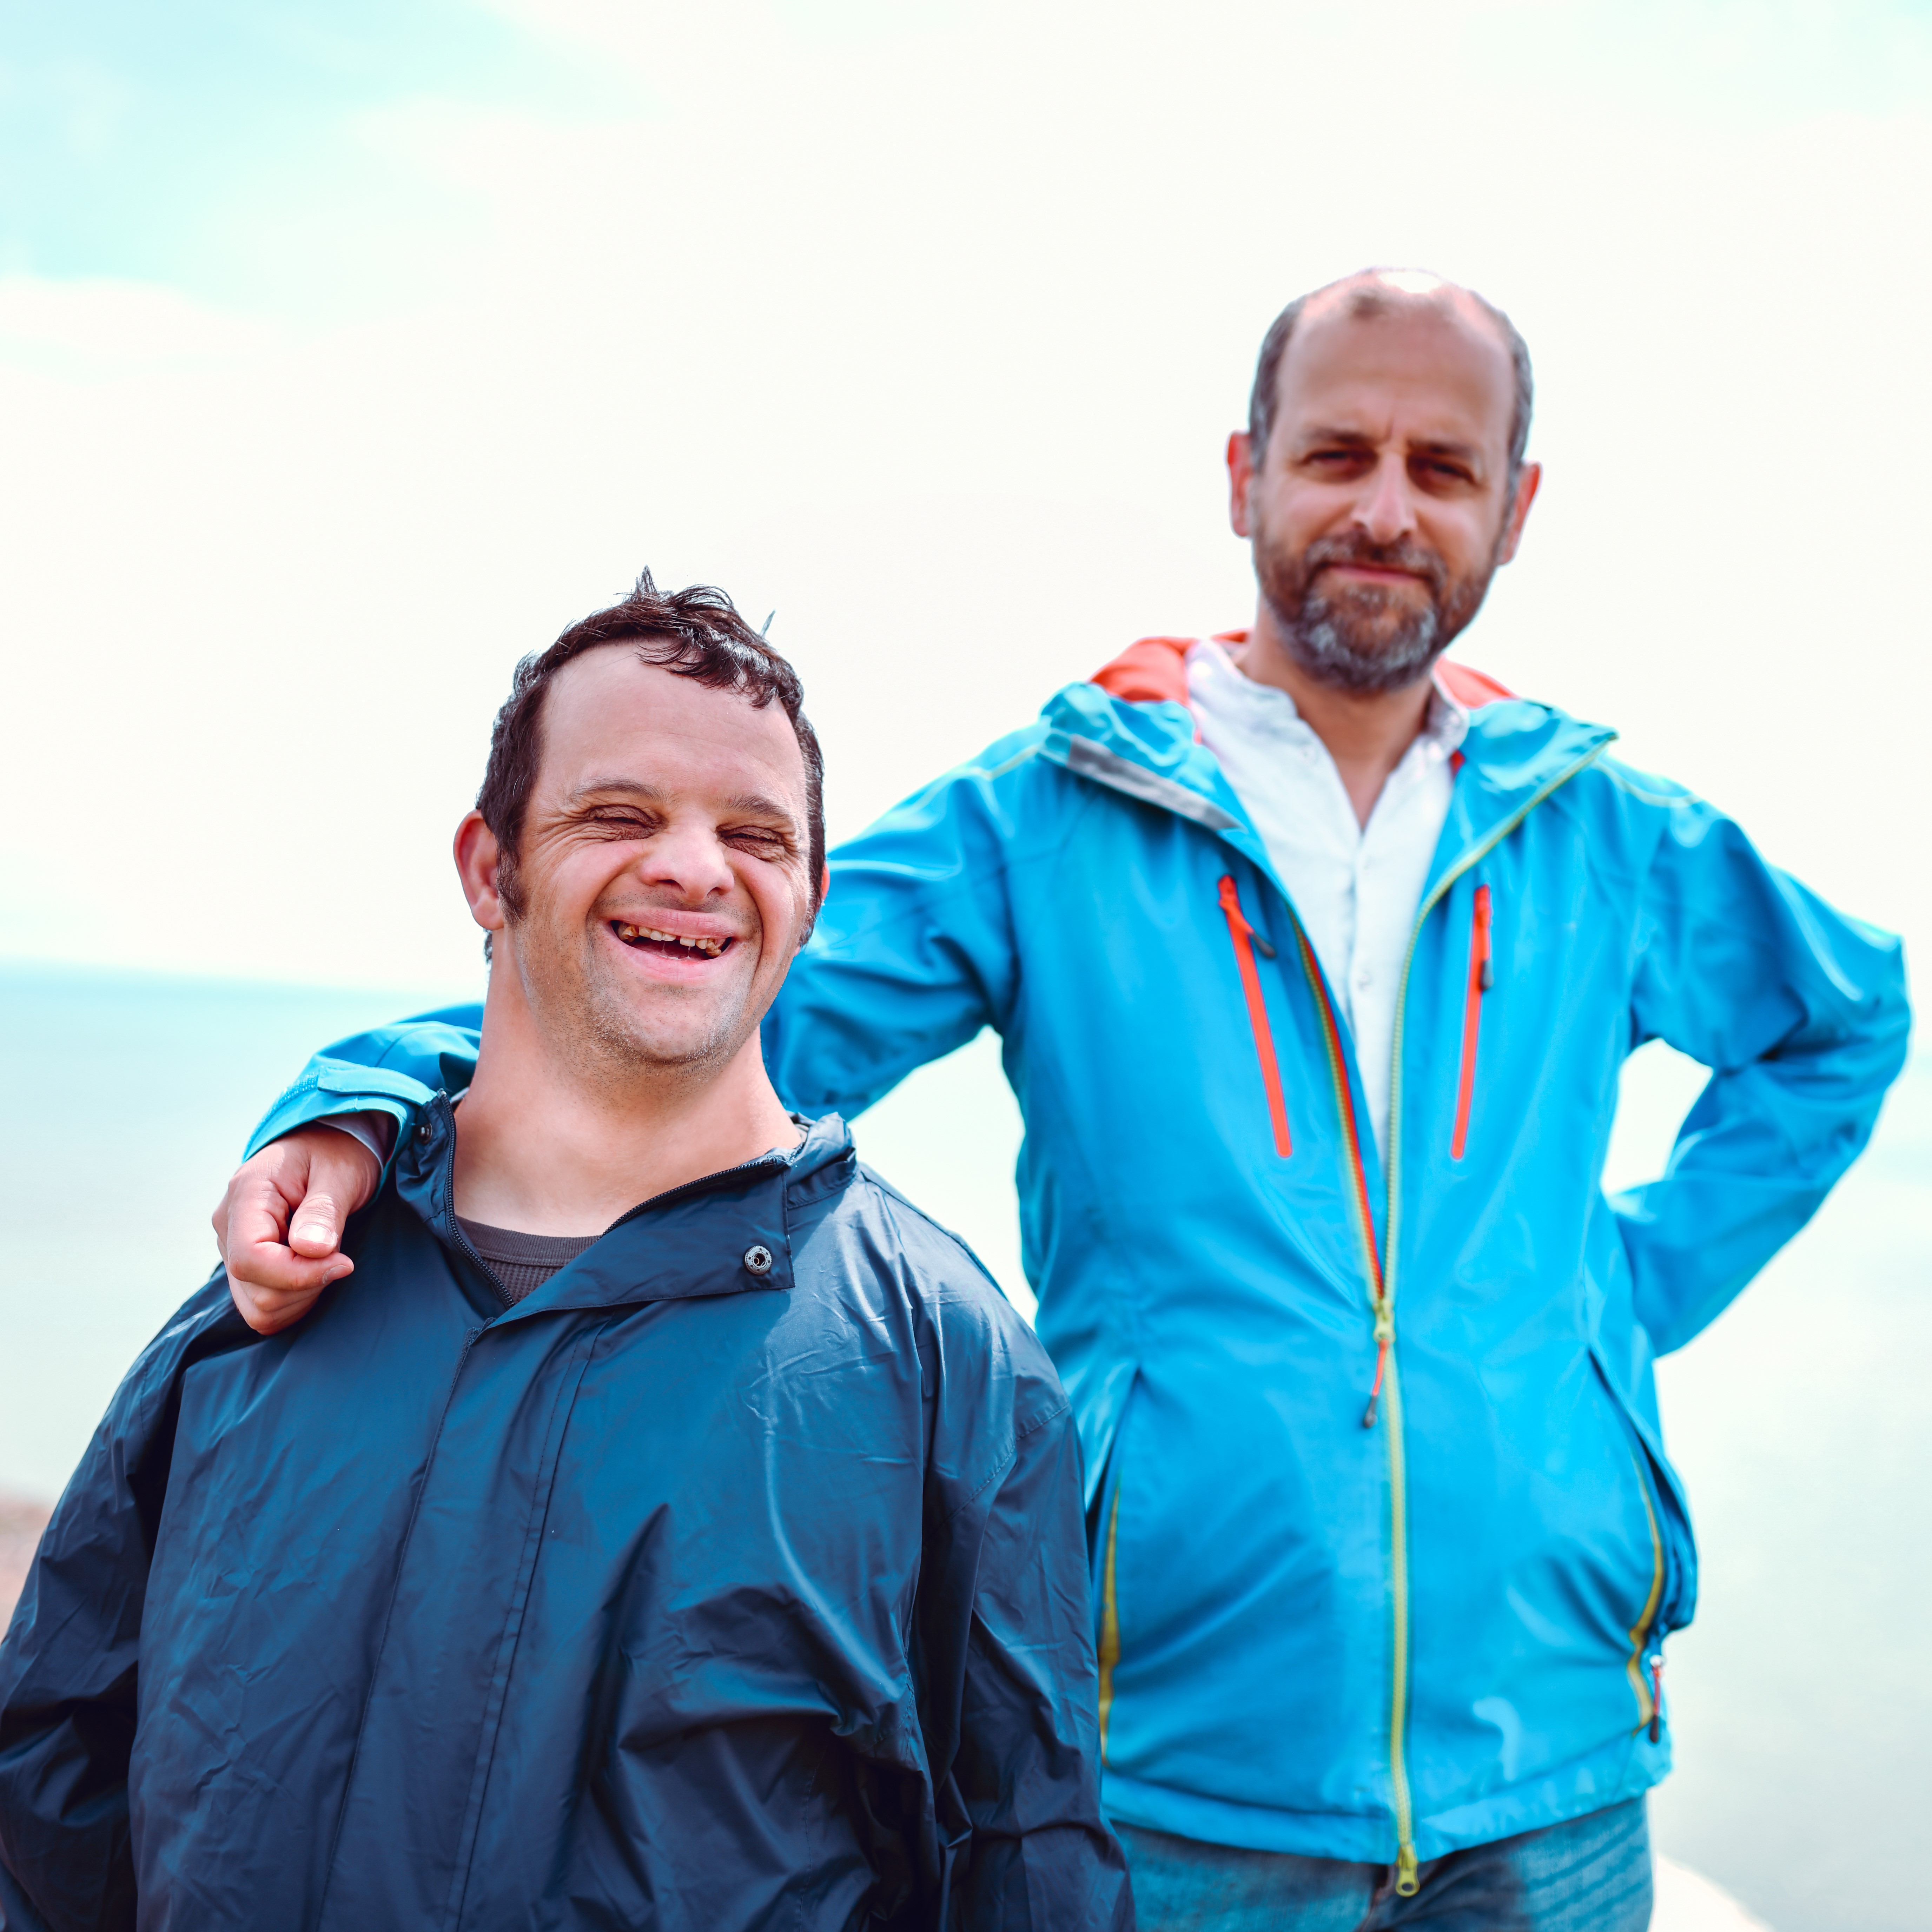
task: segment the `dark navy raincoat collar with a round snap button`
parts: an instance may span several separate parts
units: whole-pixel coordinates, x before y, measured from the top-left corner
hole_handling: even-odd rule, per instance
[[[838,1115],[802,1124],[806,1138],[790,1151],[763,1153],[639,1202],[491,1325],[560,1308],[790,1289],[792,1215],[819,1194],[848,1186],[858,1173],[852,1134]],[[396,1192],[444,1248],[468,1258],[452,1200],[454,1169],[456,1119],[450,1097],[437,1094],[396,1155]]]

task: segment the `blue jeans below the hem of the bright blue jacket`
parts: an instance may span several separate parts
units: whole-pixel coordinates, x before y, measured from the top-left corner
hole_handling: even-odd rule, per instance
[[[1397,1897],[1395,1868],[1236,1851],[1115,1824],[1134,1874],[1140,1932],[1644,1932],[1650,1822],[1642,1799],[1470,1845],[1422,1866]]]

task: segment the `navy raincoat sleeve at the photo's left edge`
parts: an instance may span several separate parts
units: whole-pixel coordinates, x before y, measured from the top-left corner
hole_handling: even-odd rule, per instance
[[[0,1642],[0,1926],[133,1926],[128,1764],[182,1368],[247,1341],[216,1275],[128,1372]]]

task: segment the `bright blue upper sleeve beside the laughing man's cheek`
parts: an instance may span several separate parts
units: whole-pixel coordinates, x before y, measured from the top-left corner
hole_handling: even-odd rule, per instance
[[[1009,871],[1051,840],[1022,823],[1041,736],[1001,740],[833,852],[817,931],[765,1014],[765,1066],[796,1113],[852,1119],[983,1026],[1005,1032]]]

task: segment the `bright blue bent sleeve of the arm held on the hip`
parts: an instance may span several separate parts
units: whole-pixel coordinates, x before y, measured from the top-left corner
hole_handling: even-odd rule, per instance
[[[1633,775],[1617,782],[1636,790]],[[1636,1318],[1660,1354],[1708,1327],[1816,1213],[1905,1065],[1905,960],[1689,794],[1663,813],[1640,896],[1633,1047],[1708,1066],[1662,1180],[1613,1200]]]

